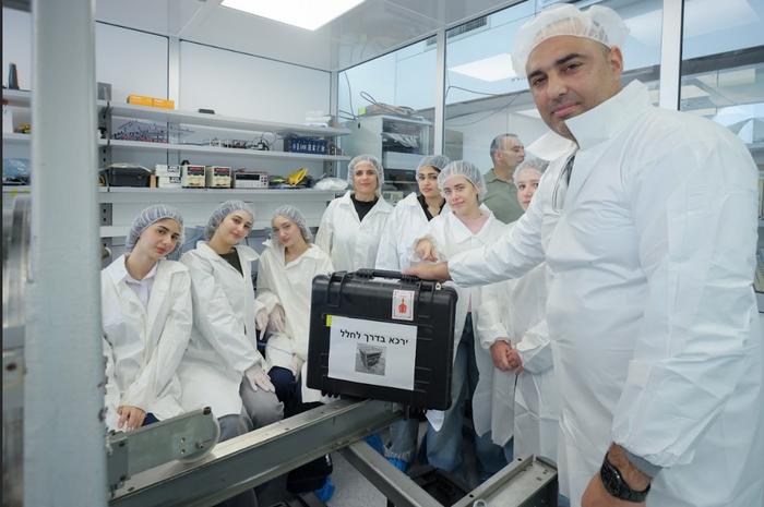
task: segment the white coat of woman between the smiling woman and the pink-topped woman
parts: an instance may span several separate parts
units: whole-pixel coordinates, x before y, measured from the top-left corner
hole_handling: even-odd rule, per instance
[[[441,215],[449,212],[443,204]],[[377,268],[399,271],[419,262],[414,252],[417,238],[427,234],[429,220],[417,194],[411,192],[395,205],[382,232],[377,251]]]

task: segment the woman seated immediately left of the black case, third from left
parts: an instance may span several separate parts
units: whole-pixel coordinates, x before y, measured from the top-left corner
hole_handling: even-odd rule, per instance
[[[282,206],[271,220],[258,268],[255,322],[261,334],[271,324],[265,347],[268,374],[287,417],[302,403],[319,401],[321,393],[306,386],[310,298],[313,278],[334,271],[326,253],[312,244],[313,234],[295,206]],[[300,387],[298,387],[300,386]]]

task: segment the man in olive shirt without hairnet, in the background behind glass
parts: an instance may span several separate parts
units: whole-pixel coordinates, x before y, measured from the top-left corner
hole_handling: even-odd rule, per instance
[[[517,188],[513,173],[525,159],[525,147],[515,134],[497,135],[491,142],[493,168],[485,174],[488,194],[482,204],[504,224],[511,224],[523,215],[517,204]]]

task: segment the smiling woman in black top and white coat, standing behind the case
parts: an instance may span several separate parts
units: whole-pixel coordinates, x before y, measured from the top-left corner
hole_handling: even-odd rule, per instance
[[[382,231],[393,206],[382,198],[384,172],[371,155],[350,160],[347,180],[353,186],[326,207],[315,244],[326,252],[338,271],[373,268]]]

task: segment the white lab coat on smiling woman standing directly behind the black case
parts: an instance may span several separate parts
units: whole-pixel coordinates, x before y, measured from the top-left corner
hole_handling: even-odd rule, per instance
[[[374,267],[377,248],[393,212],[393,206],[380,197],[361,221],[350,193],[329,203],[315,234],[315,244],[329,254],[338,271]]]

